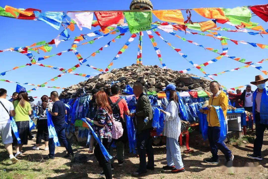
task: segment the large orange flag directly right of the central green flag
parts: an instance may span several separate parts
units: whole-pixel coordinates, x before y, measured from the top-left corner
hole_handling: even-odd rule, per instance
[[[153,10],[152,13],[160,20],[184,25],[180,10]]]

